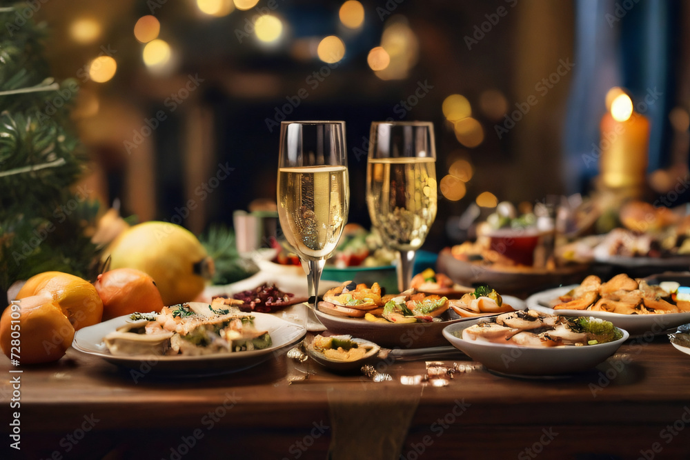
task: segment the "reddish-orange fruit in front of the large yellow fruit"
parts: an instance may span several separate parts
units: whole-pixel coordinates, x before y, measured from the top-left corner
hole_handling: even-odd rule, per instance
[[[134,268],[99,274],[94,287],[103,301],[103,321],[134,312],[160,312],[164,307],[153,278]]]

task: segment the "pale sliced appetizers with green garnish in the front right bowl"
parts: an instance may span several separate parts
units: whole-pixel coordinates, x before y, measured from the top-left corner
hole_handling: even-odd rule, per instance
[[[499,314],[462,331],[463,340],[524,347],[591,346],[623,337],[609,321],[593,317],[563,317],[520,310]]]

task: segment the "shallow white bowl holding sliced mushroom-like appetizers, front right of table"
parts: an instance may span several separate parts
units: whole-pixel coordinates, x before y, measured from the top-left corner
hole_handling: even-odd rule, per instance
[[[629,337],[628,332],[622,330],[623,337],[613,342],[582,347],[550,348],[530,348],[460,339],[462,331],[477,321],[479,320],[455,323],[445,328],[443,335],[451,342],[451,345],[482,363],[487,369],[509,375],[554,376],[582,372],[602,363]]]

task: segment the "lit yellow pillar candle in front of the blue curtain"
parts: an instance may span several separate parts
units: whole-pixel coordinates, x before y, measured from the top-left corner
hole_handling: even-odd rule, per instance
[[[635,113],[630,97],[618,92],[601,121],[600,174],[609,188],[640,187],[647,175],[649,119]]]

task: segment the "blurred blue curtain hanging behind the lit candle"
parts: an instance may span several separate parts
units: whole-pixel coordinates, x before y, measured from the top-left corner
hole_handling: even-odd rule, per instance
[[[564,129],[569,192],[586,192],[598,174],[584,157],[599,146],[613,86],[627,89],[635,110],[651,121],[648,171],[668,166],[679,14],[678,0],[575,1],[575,74]]]

